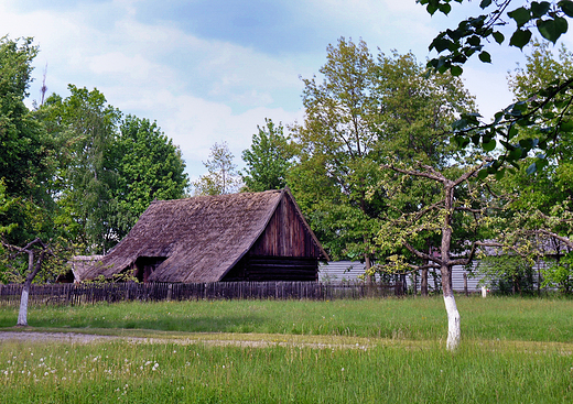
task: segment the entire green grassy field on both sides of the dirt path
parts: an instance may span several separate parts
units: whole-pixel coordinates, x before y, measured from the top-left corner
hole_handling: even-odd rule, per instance
[[[455,353],[444,349],[446,318],[439,297],[32,308],[33,330],[166,341],[4,342],[1,401],[573,402],[572,301],[460,297],[457,303],[463,340]],[[17,309],[0,308],[0,331],[14,330],[15,318]],[[267,343],[201,342],[234,338]],[[181,343],[186,339],[199,342]],[[312,348],[313,342],[332,347]]]

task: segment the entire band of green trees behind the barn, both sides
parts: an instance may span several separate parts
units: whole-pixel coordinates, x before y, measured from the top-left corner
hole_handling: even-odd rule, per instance
[[[105,253],[149,203],[184,197],[190,185],[193,195],[289,186],[331,256],[366,262],[370,274],[419,274],[426,293],[430,274],[479,259],[496,286],[572,290],[571,131],[531,143],[552,122],[573,122],[565,92],[543,105],[539,122],[512,127],[512,143],[489,132],[460,138],[455,129],[478,116],[460,77],[342,37],[320,75],[303,78],[302,122],[267,119],[241,171],[216,143],[207,173],[190,184],[180,150],[158,125],[123,116],[97,89],[71,85],[65,97],[26,108],[39,50],[29,39],[0,46],[0,230],[9,253],[37,237],[50,240],[46,267],[72,252]],[[509,87],[525,98],[571,77],[572,62],[564,47],[555,56],[536,42]],[[9,261],[4,282],[26,266]]]

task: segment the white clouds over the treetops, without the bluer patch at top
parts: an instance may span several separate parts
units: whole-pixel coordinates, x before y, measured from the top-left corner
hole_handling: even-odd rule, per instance
[[[414,0],[299,0],[288,6],[296,19],[293,26],[324,44],[266,54],[257,46],[197,37],[173,21],[143,23],[138,11],[145,3],[79,2],[68,10],[17,12],[2,2],[0,26],[12,37],[34,36],[41,47],[32,98],[37,98],[47,62],[50,92],[65,97],[68,83],[97,87],[121,111],[156,120],[181,145],[192,176],[203,173],[201,162],[215,142],[227,141],[239,162],[264,118],[301,121],[299,75],[317,74],[327,44],[337,37],[363,36],[375,53],[377,46],[386,53],[412,50],[423,62],[433,35],[450,26],[450,20],[430,18]],[[505,75],[490,72],[469,66],[464,75],[484,112],[491,99],[506,95]]]

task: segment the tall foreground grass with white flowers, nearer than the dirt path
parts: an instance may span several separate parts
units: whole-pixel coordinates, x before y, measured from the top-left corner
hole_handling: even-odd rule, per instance
[[[310,349],[7,343],[2,403],[563,403],[573,358],[496,343]]]

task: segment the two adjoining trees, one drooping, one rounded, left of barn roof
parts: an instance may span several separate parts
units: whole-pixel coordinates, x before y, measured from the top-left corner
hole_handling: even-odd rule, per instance
[[[35,112],[48,132],[57,171],[51,187],[60,222],[85,253],[111,249],[156,198],[185,196],[181,151],[156,123],[127,116],[97,89],[68,86]]]

